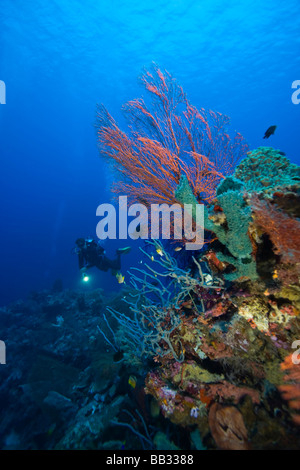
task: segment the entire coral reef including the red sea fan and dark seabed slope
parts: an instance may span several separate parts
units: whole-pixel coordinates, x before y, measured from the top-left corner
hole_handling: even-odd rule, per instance
[[[260,147],[233,174],[247,146],[228,118],[156,66],[141,80],[152,104],[125,106],[130,134],[99,108],[115,190],[192,215],[205,203],[207,243],[145,241],[109,297],[56,281],[2,308],[18,366],[3,369],[1,447],[298,449],[299,167]]]

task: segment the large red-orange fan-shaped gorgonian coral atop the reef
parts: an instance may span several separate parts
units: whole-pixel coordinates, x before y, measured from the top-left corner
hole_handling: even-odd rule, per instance
[[[236,133],[231,139],[227,116],[198,111],[175,79],[156,65],[141,81],[151,103],[136,99],[123,107],[128,134],[104,106],[98,107],[100,153],[123,176],[113,191],[131,202],[173,204],[180,177],[186,175],[197,200],[210,202],[220,180],[246,155],[244,138]]]

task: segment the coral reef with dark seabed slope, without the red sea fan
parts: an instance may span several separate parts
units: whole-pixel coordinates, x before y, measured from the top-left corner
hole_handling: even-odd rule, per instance
[[[177,196],[197,203],[186,177]],[[201,251],[148,240],[116,295],[56,283],[1,309],[2,448],[297,449],[299,213],[295,180],[227,177]]]

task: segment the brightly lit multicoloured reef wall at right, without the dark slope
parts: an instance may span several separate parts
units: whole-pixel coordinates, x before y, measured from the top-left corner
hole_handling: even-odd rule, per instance
[[[163,416],[186,429],[196,425],[206,448],[297,448],[299,438],[299,366],[287,359],[300,335],[298,170],[291,165],[286,187],[269,165],[268,185],[257,182],[254,190],[236,176],[242,168],[257,171],[253,155],[261,153],[250,153],[205,208],[205,226],[217,240],[198,258],[202,276],[195,276],[192,299],[177,302],[173,334],[184,356],[157,357],[145,382]],[[187,180],[176,197],[194,203]],[[208,275],[211,289],[201,283]]]

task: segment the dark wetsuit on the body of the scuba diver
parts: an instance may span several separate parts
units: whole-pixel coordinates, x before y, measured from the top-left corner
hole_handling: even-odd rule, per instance
[[[99,246],[95,240],[85,243],[83,247],[78,248],[79,269],[96,267],[101,271],[119,271],[121,269],[120,254],[117,258],[111,260],[104,255],[104,248]]]

